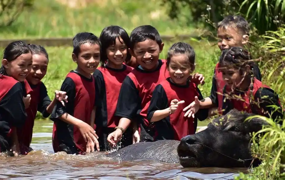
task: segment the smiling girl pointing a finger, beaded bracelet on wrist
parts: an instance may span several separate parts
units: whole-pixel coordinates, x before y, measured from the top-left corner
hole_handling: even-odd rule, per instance
[[[156,140],[178,140],[189,134],[195,134],[197,119],[184,117],[182,111],[201,92],[193,82],[189,82],[189,74],[195,69],[195,52],[189,44],[175,43],[167,54],[166,65],[170,77],[155,87],[148,108],[147,119],[155,122]],[[208,110],[201,109],[196,115],[200,121],[207,118]]]

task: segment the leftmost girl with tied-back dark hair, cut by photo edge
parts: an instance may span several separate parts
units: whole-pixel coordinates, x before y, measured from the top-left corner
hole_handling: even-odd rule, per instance
[[[0,151],[19,153],[17,128],[26,121],[23,86],[32,69],[32,52],[23,41],[13,41],[4,50],[0,68]]]

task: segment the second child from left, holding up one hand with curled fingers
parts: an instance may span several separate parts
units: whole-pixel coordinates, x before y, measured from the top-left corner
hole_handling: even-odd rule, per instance
[[[26,109],[27,119],[22,128],[17,129],[20,152],[26,155],[32,151],[30,144],[32,141],[32,133],[37,111],[41,112],[44,118],[48,118],[51,114],[56,100],[66,101],[66,92],[55,91],[55,98],[50,100],[47,88],[41,79],[45,76],[48,67],[48,53],[44,47],[40,45],[28,44],[32,51],[32,70],[26,77],[29,86],[32,88],[30,94],[30,104]],[[62,102],[63,103],[63,102]]]

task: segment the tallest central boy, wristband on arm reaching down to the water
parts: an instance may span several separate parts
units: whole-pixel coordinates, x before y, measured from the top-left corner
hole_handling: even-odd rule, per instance
[[[158,31],[150,25],[139,26],[131,32],[129,50],[139,66],[127,75],[121,85],[115,111],[115,116],[121,119],[116,130],[108,136],[108,141],[113,146],[135,119],[140,124],[139,139],[154,140],[155,128],[147,120],[147,109],[155,86],[169,77],[168,71],[165,71],[166,61],[159,59],[163,46]],[[134,131],[138,136],[138,131]]]

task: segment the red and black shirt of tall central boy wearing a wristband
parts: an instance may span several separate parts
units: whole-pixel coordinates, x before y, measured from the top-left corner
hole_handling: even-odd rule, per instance
[[[169,77],[169,73],[166,70],[166,60],[164,59],[158,60],[158,67],[152,71],[136,67],[127,75],[121,85],[115,116],[137,120],[143,128],[148,128],[147,109],[152,92],[155,86],[167,77]],[[153,136],[154,132],[147,133]]]

